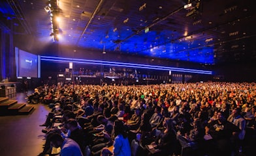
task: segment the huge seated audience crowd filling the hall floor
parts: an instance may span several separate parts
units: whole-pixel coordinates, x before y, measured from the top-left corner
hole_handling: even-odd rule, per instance
[[[52,108],[40,155],[238,155],[256,136],[254,83],[44,85],[34,96]]]

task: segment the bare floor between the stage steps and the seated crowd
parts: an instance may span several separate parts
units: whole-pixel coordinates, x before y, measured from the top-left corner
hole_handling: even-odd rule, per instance
[[[25,102],[27,94],[17,93],[16,99]],[[42,152],[44,127],[39,125],[44,123],[50,109],[43,104],[33,106],[35,109],[28,115],[0,116],[0,155],[36,156]]]

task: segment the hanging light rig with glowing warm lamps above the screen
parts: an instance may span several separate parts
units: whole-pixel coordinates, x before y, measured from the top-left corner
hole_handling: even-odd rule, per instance
[[[44,10],[48,12],[51,22],[51,32],[52,40],[59,41],[59,0],[48,0],[47,6],[44,7]]]

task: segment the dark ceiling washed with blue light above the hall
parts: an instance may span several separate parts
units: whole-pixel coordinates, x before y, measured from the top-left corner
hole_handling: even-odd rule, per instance
[[[201,64],[256,60],[254,0],[56,1],[1,1],[1,16],[9,26],[22,27],[14,29],[17,34],[54,42],[51,12],[46,12],[50,8],[55,42],[105,51],[106,55],[123,53]],[[195,8],[185,9],[188,3]]]

